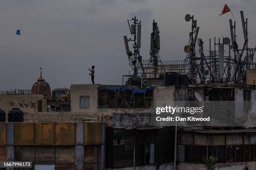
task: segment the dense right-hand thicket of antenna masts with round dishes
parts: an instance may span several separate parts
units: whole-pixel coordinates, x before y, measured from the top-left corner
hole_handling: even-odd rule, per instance
[[[194,20],[194,16],[187,14],[185,20],[192,21],[192,31],[189,33],[189,45],[184,47],[184,51],[188,53],[186,61],[189,61],[189,70],[185,72],[189,73],[190,80],[194,83],[205,83],[206,80],[210,82],[234,82],[234,83],[246,83],[246,70],[254,68],[253,55],[256,50],[248,48],[248,20],[244,20],[243,11],[241,13],[241,20],[243,26],[244,44],[242,49],[238,49],[236,42],[236,22],[232,23],[229,20],[230,25],[230,38],[214,37],[214,50],[211,49],[211,39],[209,47],[209,55],[205,56],[203,49],[203,41],[198,38],[197,22]],[[194,35],[195,33],[195,35]],[[198,53],[200,57],[197,57],[196,41],[198,45]],[[216,48],[218,47],[218,50]],[[228,50],[227,50],[228,49]],[[233,49],[233,57],[231,50]],[[226,50],[226,51],[225,51]],[[246,56],[243,57],[243,52],[246,51]],[[228,53],[228,55],[226,55]],[[199,62],[200,61],[200,62]]]

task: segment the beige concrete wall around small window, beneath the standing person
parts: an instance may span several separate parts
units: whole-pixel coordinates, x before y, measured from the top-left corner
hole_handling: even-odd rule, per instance
[[[71,85],[70,100],[72,112],[97,112],[99,84],[90,85]],[[88,108],[80,108],[80,96],[89,96],[90,102]]]

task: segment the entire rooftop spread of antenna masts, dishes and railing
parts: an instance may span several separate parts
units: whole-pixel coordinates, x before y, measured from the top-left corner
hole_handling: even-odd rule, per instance
[[[157,23],[153,20],[153,31],[151,32],[150,59],[142,60],[141,47],[141,21],[136,17],[128,20],[129,29],[133,38],[124,36],[126,54],[134,71],[133,77],[140,77],[142,83],[146,81],[163,80],[166,72],[177,72],[189,76],[192,84],[197,83],[246,83],[246,70],[256,69],[253,62],[255,48],[248,47],[248,19],[244,19],[243,11],[240,12],[243,27],[244,43],[238,48],[236,35],[236,21],[229,20],[230,37],[214,37],[214,48],[211,47],[209,39],[209,54],[206,55],[203,40],[198,37],[199,27],[193,15],[187,14],[185,21],[191,21],[189,32],[189,44],[185,45],[187,53],[185,60],[161,61],[160,36]],[[131,24],[130,24],[131,23]],[[128,42],[133,41],[133,51],[129,50]],[[245,53],[245,54],[244,54]],[[129,75],[130,77],[130,75]]]

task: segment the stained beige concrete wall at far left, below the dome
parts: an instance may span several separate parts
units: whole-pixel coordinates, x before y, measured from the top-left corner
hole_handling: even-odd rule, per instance
[[[37,112],[37,101],[42,100],[42,111],[47,111],[47,100],[44,95],[0,95],[0,108],[8,113],[12,108],[24,112]]]

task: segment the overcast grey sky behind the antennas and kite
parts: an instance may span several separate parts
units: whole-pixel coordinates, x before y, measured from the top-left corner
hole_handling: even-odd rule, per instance
[[[121,84],[130,67],[123,36],[134,13],[142,21],[143,59],[149,58],[152,20],[160,29],[161,60],[184,60],[192,14],[204,46],[208,38],[229,37],[231,13],[243,44],[240,10],[248,18],[249,45],[256,45],[255,0],[0,0],[0,90],[31,89],[40,76],[54,87],[95,82]],[[15,35],[20,29],[21,36]],[[207,53],[207,52],[205,52]]]

